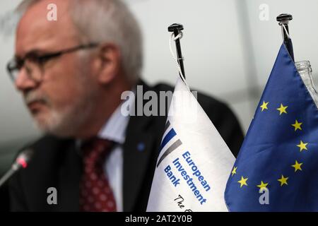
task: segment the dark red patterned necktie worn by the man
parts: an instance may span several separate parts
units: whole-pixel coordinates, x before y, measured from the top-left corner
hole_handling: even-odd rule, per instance
[[[113,144],[112,141],[93,138],[82,147],[84,172],[80,185],[81,211],[116,211],[114,195],[103,169]]]

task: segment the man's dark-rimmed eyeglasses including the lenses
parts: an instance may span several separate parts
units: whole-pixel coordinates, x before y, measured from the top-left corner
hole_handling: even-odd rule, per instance
[[[12,79],[13,83],[16,82],[16,79],[18,78],[20,70],[23,68],[23,66],[25,67],[27,75],[30,79],[36,82],[40,82],[42,80],[43,69],[47,61],[61,57],[61,55],[63,54],[68,54],[81,49],[90,49],[94,47],[98,47],[98,44],[81,44],[70,49],[64,49],[59,52],[52,52],[42,55],[36,52],[29,52],[23,58],[15,57],[11,61],[9,61],[6,66],[6,69],[8,70],[8,74]]]

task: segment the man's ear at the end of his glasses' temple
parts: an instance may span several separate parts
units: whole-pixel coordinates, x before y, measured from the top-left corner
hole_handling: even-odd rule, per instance
[[[98,81],[102,84],[107,84],[114,79],[114,76],[120,71],[121,55],[119,47],[114,44],[102,44],[98,49]]]

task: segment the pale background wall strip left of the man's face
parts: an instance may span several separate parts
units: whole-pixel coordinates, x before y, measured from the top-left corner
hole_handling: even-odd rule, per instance
[[[0,1],[1,21],[8,23],[8,13],[15,8],[19,0]],[[1,23],[0,33],[0,143],[19,138],[32,137],[37,132],[23,105],[20,95],[6,73],[6,63],[13,57],[14,36],[7,35],[7,27]],[[5,35],[4,35],[5,33]]]

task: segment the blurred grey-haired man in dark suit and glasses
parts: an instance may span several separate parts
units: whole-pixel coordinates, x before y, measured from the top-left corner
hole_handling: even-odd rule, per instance
[[[57,21],[47,20],[52,3]],[[8,71],[45,136],[30,145],[29,167],[11,180],[11,209],[146,210],[166,117],[124,116],[121,95],[136,85],[173,89],[141,81],[134,16],[116,0],[30,0],[18,11]],[[243,136],[235,116],[211,97],[198,100],[236,155]]]

